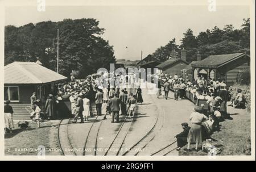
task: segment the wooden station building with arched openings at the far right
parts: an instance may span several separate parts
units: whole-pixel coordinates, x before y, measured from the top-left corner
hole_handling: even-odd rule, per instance
[[[219,78],[225,81],[227,86],[232,86],[239,73],[250,70],[250,56],[246,53],[213,55],[193,62],[191,66],[193,79],[198,76],[207,80]]]

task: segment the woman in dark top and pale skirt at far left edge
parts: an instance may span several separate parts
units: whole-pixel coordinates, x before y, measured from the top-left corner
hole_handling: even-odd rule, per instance
[[[13,131],[14,122],[13,122],[13,107],[11,107],[10,100],[5,102],[4,113],[5,113],[5,132],[9,129],[10,132]]]

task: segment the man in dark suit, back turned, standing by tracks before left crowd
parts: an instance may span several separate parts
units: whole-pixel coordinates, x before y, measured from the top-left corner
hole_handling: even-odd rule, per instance
[[[109,100],[108,105],[110,106],[110,111],[112,114],[112,123],[114,123],[114,119],[116,117],[117,123],[119,122],[119,104],[122,104],[121,99],[118,98],[118,94],[115,93],[115,96]]]

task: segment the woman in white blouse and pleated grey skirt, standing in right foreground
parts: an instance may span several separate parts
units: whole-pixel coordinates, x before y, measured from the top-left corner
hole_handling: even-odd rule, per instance
[[[188,148],[185,150],[191,150],[191,143],[196,143],[196,151],[198,151],[199,144],[202,143],[202,126],[203,121],[208,120],[207,116],[201,114],[201,108],[195,108],[195,111],[190,115],[191,129],[188,132]]]

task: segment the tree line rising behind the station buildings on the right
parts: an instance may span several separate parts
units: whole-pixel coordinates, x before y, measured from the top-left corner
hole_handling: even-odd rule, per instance
[[[202,59],[216,54],[250,53],[250,19],[243,19],[240,30],[234,29],[232,24],[228,24],[222,30],[215,26],[212,30],[208,29],[195,36],[189,28],[187,32],[183,33],[179,46],[175,43],[175,39],[172,39],[167,45],[156,49],[152,56],[160,61],[166,61],[170,58],[173,50],[180,56],[180,51],[183,48],[187,50],[188,62],[197,59],[197,52],[200,52]]]

